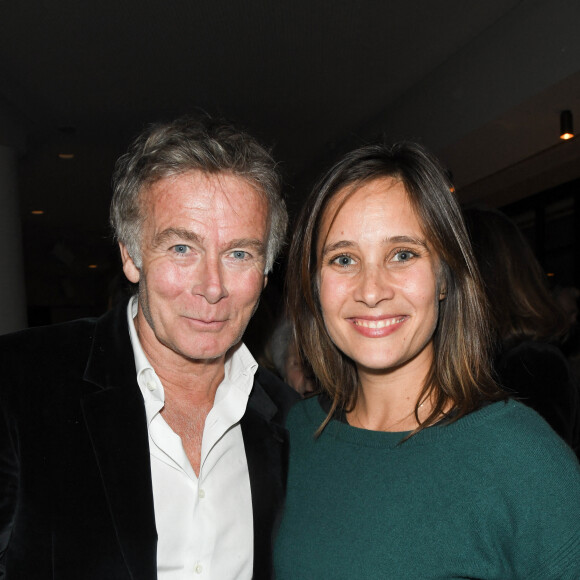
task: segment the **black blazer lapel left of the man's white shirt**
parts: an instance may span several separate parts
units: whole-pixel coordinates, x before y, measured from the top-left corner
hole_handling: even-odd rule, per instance
[[[101,387],[82,401],[121,550],[133,578],[157,578],[157,531],[147,419],[136,381],[126,302],[99,319],[86,381]]]

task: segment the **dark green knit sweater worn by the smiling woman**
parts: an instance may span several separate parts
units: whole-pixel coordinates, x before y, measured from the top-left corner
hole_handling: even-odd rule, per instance
[[[494,403],[404,433],[288,420],[277,580],[580,579],[580,465],[534,411]]]

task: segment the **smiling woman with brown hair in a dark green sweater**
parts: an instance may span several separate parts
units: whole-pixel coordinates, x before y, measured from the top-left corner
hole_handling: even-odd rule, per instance
[[[435,160],[412,144],[344,157],[289,264],[323,394],[289,417],[278,580],[580,578],[580,467],[491,377],[479,275]]]

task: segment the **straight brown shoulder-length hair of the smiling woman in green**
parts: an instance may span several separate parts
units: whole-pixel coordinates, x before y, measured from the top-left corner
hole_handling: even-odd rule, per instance
[[[334,345],[322,316],[317,255],[321,224],[338,194],[352,194],[385,177],[404,184],[427,242],[440,260],[439,284],[446,294],[433,337],[432,366],[415,407],[417,421],[419,401],[428,395],[433,409],[419,431],[444,412],[456,420],[485,400],[506,396],[491,374],[487,304],[461,210],[439,163],[423,147],[415,143],[367,145],[348,153],[322,177],[294,232],[287,272],[288,308],[302,355],[332,400],[328,422],[335,411],[353,409],[359,382],[354,362]]]

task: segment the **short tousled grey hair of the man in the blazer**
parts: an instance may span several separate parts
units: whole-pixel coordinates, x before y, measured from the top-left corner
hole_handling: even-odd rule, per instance
[[[111,225],[137,268],[141,267],[141,193],[155,182],[189,171],[228,173],[246,180],[268,202],[270,229],[265,273],[280,252],[288,214],[281,181],[270,153],[229,122],[183,117],[150,126],[119,158],[113,174]]]

